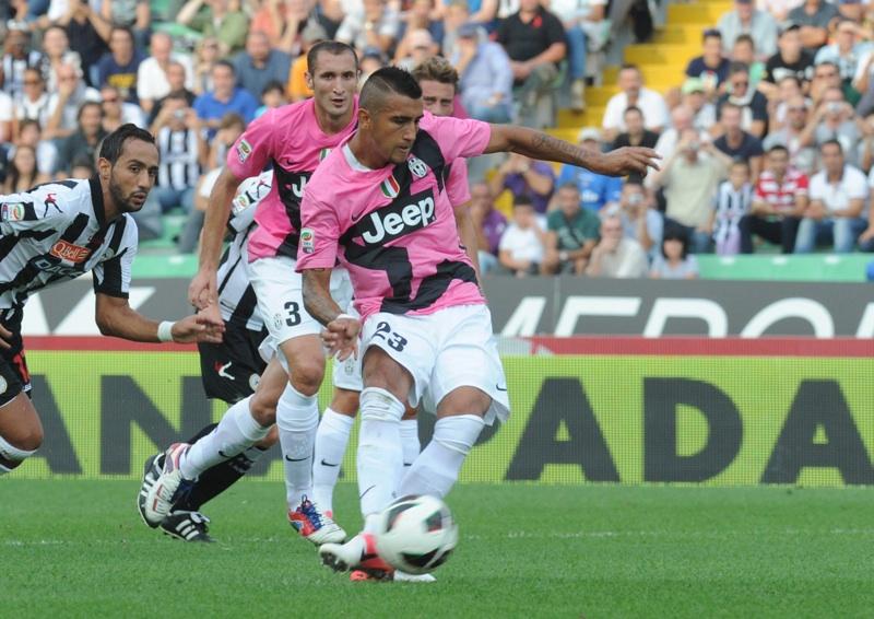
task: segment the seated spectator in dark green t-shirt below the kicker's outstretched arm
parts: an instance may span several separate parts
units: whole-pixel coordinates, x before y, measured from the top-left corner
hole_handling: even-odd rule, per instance
[[[555,203],[557,208],[546,218],[543,272],[581,276],[598,242],[601,220],[580,208],[580,191],[574,183],[558,187]]]

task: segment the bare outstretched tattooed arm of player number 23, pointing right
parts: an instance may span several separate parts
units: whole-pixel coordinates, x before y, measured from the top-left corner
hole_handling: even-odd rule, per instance
[[[484,152],[516,152],[531,159],[569,163],[607,176],[645,174],[650,167],[658,170],[656,162],[661,159],[652,149],[636,147],[602,153],[512,125],[492,125],[492,137]]]

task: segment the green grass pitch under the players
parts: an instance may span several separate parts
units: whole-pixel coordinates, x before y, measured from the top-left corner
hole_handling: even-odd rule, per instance
[[[284,522],[277,483],[156,534],[129,481],[0,481],[3,617],[872,617],[874,490],[459,486],[433,585],[351,583]],[[338,489],[356,530],[355,487]]]

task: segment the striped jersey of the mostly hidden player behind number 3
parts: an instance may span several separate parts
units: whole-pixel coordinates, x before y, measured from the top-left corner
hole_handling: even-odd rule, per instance
[[[227,224],[234,238],[222,256],[217,273],[222,318],[253,331],[260,331],[264,323],[258,313],[255,289],[246,275],[246,262],[249,261],[249,236],[258,225],[255,211],[258,202],[270,192],[272,179],[272,172],[265,172],[240,183]]]

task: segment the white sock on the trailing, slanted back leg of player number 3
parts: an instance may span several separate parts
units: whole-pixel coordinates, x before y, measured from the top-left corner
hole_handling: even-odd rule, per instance
[[[251,399],[249,396],[227,409],[218,425],[182,455],[179,459],[182,477],[197,479],[208,468],[233,458],[267,436],[270,427],[255,420],[249,411]]]

